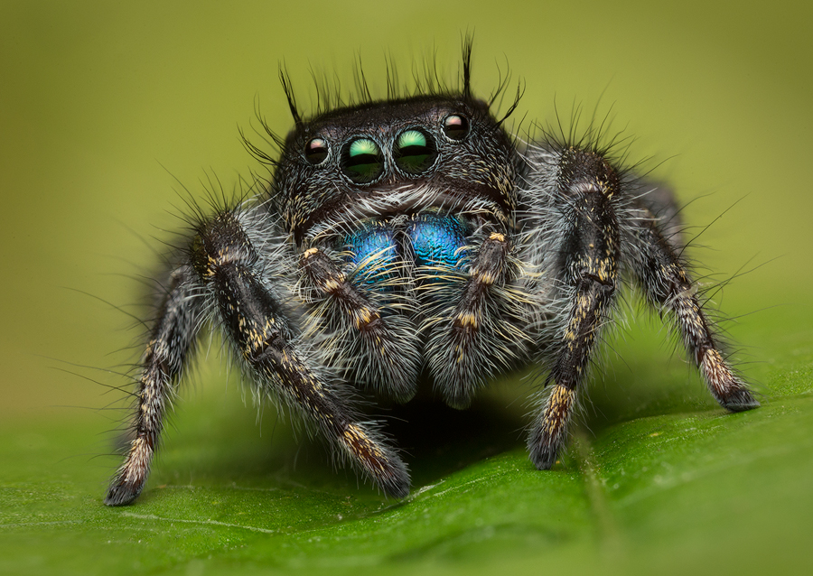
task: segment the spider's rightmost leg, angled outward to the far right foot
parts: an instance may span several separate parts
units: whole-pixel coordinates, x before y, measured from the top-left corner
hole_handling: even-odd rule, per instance
[[[647,207],[642,210],[649,218],[637,218],[632,264],[647,299],[657,309],[672,312],[689,356],[720,405],[732,412],[758,407],[748,386],[724,359],[714,324],[706,318],[695,285],[681,262],[682,247],[667,236]]]

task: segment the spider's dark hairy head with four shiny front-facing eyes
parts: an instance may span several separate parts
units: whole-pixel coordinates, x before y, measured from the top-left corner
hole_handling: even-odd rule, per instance
[[[363,218],[430,208],[508,220],[515,171],[514,144],[488,104],[465,93],[432,95],[298,121],[274,189],[300,243]]]

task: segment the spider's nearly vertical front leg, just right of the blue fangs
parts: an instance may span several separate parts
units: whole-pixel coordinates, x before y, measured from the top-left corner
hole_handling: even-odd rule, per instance
[[[549,258],[555,270],[557,314],[555,343],[547,350],[550,392],[537,412],[528,436],[530,458],[538,469],[549,469],[565,443],[567,424],[575,409],[598,333],[609,318],[621,258],[620,230],[613,203],[620,189],[617,173],[597,153],[568,148],[547,153],[543,162],[555,166],[554,190],[543,193],[551,204],[540,218],[555,224],[558,246]],[[543,169],[545,169],[543,167]]]

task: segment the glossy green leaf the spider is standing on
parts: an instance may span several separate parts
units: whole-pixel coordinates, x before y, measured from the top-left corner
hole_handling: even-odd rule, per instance
[[[761,330],[786,320],[773,319]],[[586,425],[547,472],[522,446],[524,409],[500,404],[517,383],[471,412],[394,409],[416,480],[403,502],[357,487],[321,443],[294,441],[268,414],[257,426],[219,394],[182,403],[145,494],[123,508],[101,504],[116,460],[82,455],[98,430],[5,423],[0,573],[801,570],[813,341],[795,342],[765,351],[751,370],[765,377],[763,405],[736,414],[662,352],[623,350],[629,366],[593,386]]]

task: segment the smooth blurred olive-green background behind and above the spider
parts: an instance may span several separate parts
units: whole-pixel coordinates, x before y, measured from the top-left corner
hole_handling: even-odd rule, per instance
[[[808,2],[5,0],[0,432],[14,443],[15,431],[38,427],[111,428],[95,410],[110,402],[105,389],[61,368],[120,384],[66,363],[137,356],[126,349],[130,319],[99,299],[139,310],[132,276],[154,269],[154,238],[179,225],[177,190],[201,194],[211,175],[230,190],[259,168],[238,127],[253,134],[258,106],[277,132],[288,129],[281,62],[307,109],[312,70],[335,70],[350,88],[359,55],[372,87],[383,86],[389,57],[408,79],[414,60],[436,53],[441,75],[455,79],[466,31],[476,92],[489,95],[510,70],[525,86],[517,118],[598,107],[634,136],[631,160],[652,158],[680,200],[696,200],[687,221],[698,231],[714,223],[698,242],[709,247],[693,255],[717,280],[753,269],[715,300],[739,318],[729,329],[753,363],[745,373],[770,384],[788,358],[807,358],[813,331],[811,15]],[[643,324],[625,331],[621,356],[659,334]],[[667,362],[661,348],[652,362]],[[222,397],[222,378],[212,379],[199,378],[192,396]],[[240,402],[237,388],[226,394]],[[705,394],[696,384],[689,393]],[[71,450],[104,452],[108,440]],[[114,465],[92,464],[93,497]]]

